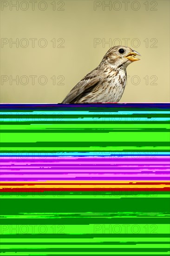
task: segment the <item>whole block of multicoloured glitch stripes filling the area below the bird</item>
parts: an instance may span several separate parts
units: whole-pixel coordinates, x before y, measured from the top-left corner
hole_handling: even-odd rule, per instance
[[[0,255],[170,255],[170,104],[0,104]]]

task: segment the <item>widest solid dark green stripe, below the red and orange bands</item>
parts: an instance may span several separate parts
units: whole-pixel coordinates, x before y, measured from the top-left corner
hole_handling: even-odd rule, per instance
[[[54,201],[56,200],[56,201]],[[101,199],[63,199],[58,200],[48,199],[44,205],[41,199],[13,199],[10,204],[7,199],[1,199],[0,215],[12,214],[17,215],[19,213],[29,212],[62,212],[70,213],[103,213],[103,212],[144,212],[144,213],[159,213],[160,205],[162,213],[170,213],[169,198],[120,198],[119,200],[112,198],[105,198],[101,202]],[[57,208],[56,208],[57,205]],[[71,208],[68,208],[70,205]],[[45,209],[47,209],[45,211]]]

